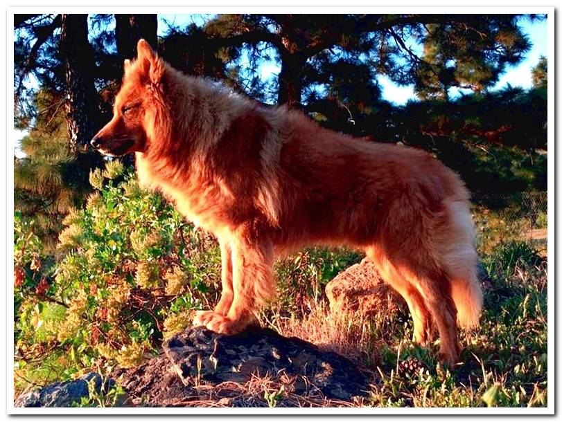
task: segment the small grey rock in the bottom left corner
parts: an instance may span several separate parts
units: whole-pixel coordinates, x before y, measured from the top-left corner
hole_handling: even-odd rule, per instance
[[[77,380],[53,383],[43,388],[34,388],[24,392],[14,402],[15,407],[71,407],[75,402],[80,403],[82,397],[89,397],[88,382],[95,380],[96,392],[102,389],[100,374],[90,372]],[[104,391],[115,384],[114,380],[106,379],[103,383]]]

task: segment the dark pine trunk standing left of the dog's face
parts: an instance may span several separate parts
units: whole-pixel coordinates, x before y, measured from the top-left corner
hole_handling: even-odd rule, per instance
[[[59,51],[66,71],[67,125],[71,151],[86,152],[100,129],[98,93],[94,85],[96,63],[88,42],[88,15],[62,15]]]

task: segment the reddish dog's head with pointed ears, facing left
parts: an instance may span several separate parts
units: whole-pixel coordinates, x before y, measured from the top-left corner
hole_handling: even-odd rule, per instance
[[[102,154],[122,156],[131,152],[145,152],[147,131],[154,126],[161,107],[161,85],[165,62],[150,44],[140,39],[137,59],[125,60],[125,74],[115,98],[113,118],[91,140],[91,147]]]

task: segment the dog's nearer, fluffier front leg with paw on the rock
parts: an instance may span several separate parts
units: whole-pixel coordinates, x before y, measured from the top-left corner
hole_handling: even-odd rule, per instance
[[[272,271],[274,248],[268,237],[259,237],[242,228],[235,233],[229,246],[234,297],[228,313],[203,312],[194,321],[194,324],[224,334],[242,331],[258,307],[270,299],[275,288]]]

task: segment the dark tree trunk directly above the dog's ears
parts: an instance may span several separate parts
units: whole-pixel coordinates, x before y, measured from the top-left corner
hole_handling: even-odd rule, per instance
[[[121,59],[137,57],[137,42],[141,38],[157,51],[157,30],[157,15],[115,15],[117,55]]]

